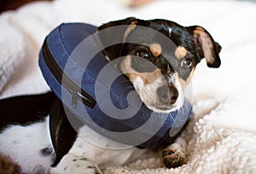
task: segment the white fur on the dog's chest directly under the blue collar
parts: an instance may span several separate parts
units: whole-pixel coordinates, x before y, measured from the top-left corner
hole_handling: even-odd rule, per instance
[[[127,147],[127,145],[101,136],[87,125],[84,125],[80,128],[79,136],[68,154],[51,171],[53,173],[70,173],[69,171],[73,169],[73,173],[76,173],[74,171],[77,171],[77,173],[95,173],[94,171],[101,173],[100,169],[104,170],[106,167],[113,165],[124,165],[130,159],[134,150],[137,149],[120,148],[124,146]],[[86,159],[86,161],[80,159]],[[79,165],[79,167],[76,167],[76,165]],[[94,170],[88,169],[88,166],[94,167]]]

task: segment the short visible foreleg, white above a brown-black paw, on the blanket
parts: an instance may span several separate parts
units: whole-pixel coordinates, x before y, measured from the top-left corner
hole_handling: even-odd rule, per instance
[[[166,165],[167,168],[175,168],[186,164],[186,147],[186,140],[183,137],[177,137],[176,141],[163,152],[164,165]]]

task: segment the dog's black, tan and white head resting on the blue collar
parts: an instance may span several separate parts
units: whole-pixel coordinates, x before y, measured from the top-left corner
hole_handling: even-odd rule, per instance
[[[103,24],[98,31],[103,54],[109,61],[122,57],[117,67],[155,112],[183,105],[183,91],[201,59],[206,58],[208,67],[220,66],[221,47],[201,26],[127,18]]]

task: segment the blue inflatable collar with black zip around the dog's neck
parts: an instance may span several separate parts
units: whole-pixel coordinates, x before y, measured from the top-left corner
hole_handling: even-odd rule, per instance
[[[119,75],[107,88],[106,78],[101,72],[109,62],[100,53],[88,57],[88,48],[91,47],[88,43],[81,47],[84,39],[94,33],[96,26],[89,24],[61,24],[49,33],[40,51],[39,66],[46,82],[73,113],[68,119],[79,118],[102,136],[131,146],[154,148],[171,143],[189,119],[192,109],[189,101],[185,100],[183,107],[172,113],[154,113],[137,95],[129,95],[135,90],[125,75]],[[97,42],[90,44],[96,45]],[[80,50],[76,51],[78,48]],[[84,61],[88,61],[86,66]],[[109,71],[119,73],[114,67]],[[101,89],[101,94],[96,94],[96,89]],[[131,96],[129,102],[127,96]],[[108,108],[110,104],[121,112],[122,118],[109,115],[102,109],[102,106]],[[131,110],[125,110],[129,104],[137,109],[132,117],[127,117]]]

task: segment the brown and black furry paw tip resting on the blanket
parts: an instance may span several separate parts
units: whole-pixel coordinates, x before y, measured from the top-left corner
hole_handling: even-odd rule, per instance
[[[176,168],[187,163],[187,157],[179,148],[169,146],[163,152],[164,165],[167,168]]]

